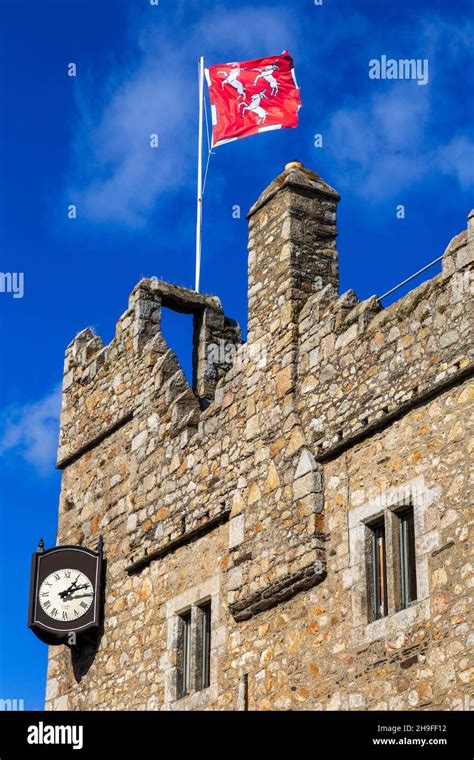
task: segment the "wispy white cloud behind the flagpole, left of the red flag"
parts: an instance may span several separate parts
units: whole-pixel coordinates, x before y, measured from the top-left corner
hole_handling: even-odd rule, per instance
[[[111,71],[102,94],[91,76],[76,83],[80,126],[68,202],[95,222],[145,225],[160,195],[195,179],[198,55],[219,63],[256,50],[279,53],[295,39],[294,26],[290,13],[270,8],[217,7],[180,37],[176,25],[150,25],[147,16],[135,40],[138,62]],[[156,150],[152,133],[159,135]]]

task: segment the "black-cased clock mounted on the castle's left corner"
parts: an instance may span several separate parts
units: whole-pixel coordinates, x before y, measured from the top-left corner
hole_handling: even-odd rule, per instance
[[[47,644],[71,641],[101,626],[102,538],[97,552],[55,546],[33,554],[28,627]]]

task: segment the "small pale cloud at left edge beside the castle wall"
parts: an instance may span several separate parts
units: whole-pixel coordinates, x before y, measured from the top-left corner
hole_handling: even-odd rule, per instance
[[[0,455],[22,457],[42,473],[54,468],[59,435],[61,389],[32,404],[0,414]]]

